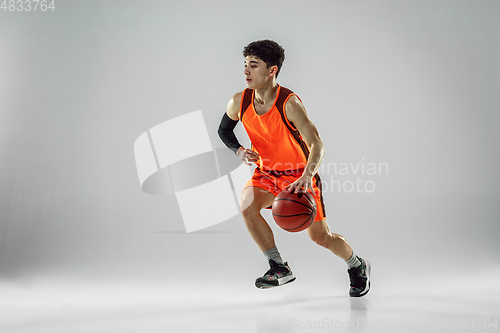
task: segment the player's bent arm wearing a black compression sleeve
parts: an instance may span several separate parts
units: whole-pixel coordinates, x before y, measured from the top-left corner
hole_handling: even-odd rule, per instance
[[[255,163],[259,160],[260,155],[251,149],[245,149],[234,135],[234,128],[239,120],[242,96],[243,92],[239,92],[231,98],[227,104],[226,113],[222,117],[217,133],[224,144],[231,149],[243,163],[251,165],[252,162]]]

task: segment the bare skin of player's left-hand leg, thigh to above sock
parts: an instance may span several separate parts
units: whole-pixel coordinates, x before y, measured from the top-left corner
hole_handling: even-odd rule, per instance
[[[276,246],[274,234],[260,211],[273,204],[274,195],[260,187],[250,186],[241,193],[240,207],[243,220],[262,252]]]

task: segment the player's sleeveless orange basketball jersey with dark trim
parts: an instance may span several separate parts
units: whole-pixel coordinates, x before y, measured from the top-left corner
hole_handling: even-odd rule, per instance
[[[304,168],[309,148],[285,113],[286,102],[291,96],[297,95],[278,85],[273,106],[268,112],[259,115],[253,103],[254,94],[253,89],[243,91],[239,117],[252,142],[252,149],[260,154],[257,166],[280,171]]]

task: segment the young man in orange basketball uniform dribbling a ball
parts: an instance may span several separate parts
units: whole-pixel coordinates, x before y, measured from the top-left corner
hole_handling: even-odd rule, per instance
[[[324,155],[318,130],[297,95],[276,83],[285,59],[284,49],[276,42],[261,40],[246,46],[243,56],[248,88],[231,98],[218,133],[243,163],[257,165],[240,200],[248,232],[270,265],[255,285],[265,289],[295,280],[260,211],[272,206],[276,195],[283,190],[311,191],[318,212],[307,229],[309,237],[346,261],[351,281],[349,295],[366,295],[370,290],[370,263],[356,256],[343,236],[330,232],[326,222],[317,173]],[[241,146],[234,135],[238,121],[250,137],[251,149]]]

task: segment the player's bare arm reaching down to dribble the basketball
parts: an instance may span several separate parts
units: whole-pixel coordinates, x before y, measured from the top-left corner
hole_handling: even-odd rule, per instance
[[[300,190],[304,188],[306,191],[310,189],[314,194],[312,179],[316,172],[318,172],[319,165],[325,154],[323,141],[319,136],[318,129],[309,119],[306,108],[296,96],[292,96],[288,99],[285,105],[285,111],[288,121],[293,123],[302,136],[302,139],[309,147],[309,158],[307,159],[307,164],[302,176],[288,185],[287,189]]]

